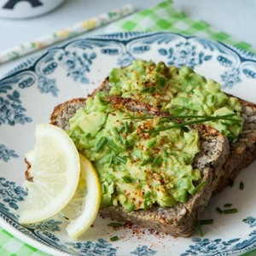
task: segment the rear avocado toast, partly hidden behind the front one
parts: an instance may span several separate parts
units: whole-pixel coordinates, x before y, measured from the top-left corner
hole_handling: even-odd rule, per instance
[[[224,94],[220,84],[205,79],[189,67],[166,67],[163,62],[134,61],[125,68],[113,68],[96,91],[150,103],[170,114],[216,116],[236,113],[242,122],[207,122],[228,138],[230,154],[224,163],[217,193],[233,182],[236,174],[256,158],[256,106]]]

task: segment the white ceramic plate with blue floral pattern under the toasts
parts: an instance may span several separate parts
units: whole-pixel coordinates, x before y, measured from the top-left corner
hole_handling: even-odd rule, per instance
[[[37,123],[49,122],[53,108],[86,96],[113,67],[133,59],[165,61],[195,68],[223,84],[223,90],[256,102],[256,55],[230,45],[173,33],[117,33],[74,40],[22,63],[0,80],[0,225],[21,240],[53,255],[238,255],[256,247],[256,164],[243,170],[232,188],[212,198],[204,218],[204,236],[174,238],[153,230],[113,230],[98,217],[79,241],[71,241],[60,218],[22,226],[16,213],[26,191],[24,154],[33,148]],[[240,182],[244,189],[239,189]],[[234,214],[216,207],[232,203]],[[110,241],[119,236],[119,241]]]

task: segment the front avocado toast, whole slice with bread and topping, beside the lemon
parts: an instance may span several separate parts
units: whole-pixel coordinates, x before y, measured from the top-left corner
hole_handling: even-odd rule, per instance
[[[96,93],[57,106],[51,123],[67,131],[96,166],[103,215],[189,236],[217,186],[229,146],[208,125],[145,132],[180,123],[169,117],[130,98]]]

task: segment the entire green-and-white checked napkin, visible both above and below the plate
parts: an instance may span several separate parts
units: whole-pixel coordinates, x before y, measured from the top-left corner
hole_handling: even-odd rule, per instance
[[[135,15],[114,22],[106,27],[105,32],[119,31],[168,31],[212,38],[228,44],[236,45],[241,49],[256,52],[252,45],[231,37],[225,32],[213,29],[205,21],[191,20],[185,14],[177,12],[172,6],[172,1],[159,3],[149,9],[143,9]],[[6,230],[0,228],[0,255],[1,256],[46,256],[48,254],[27,245],[15,238]],[[255,256],[256,251],[243,256]]]

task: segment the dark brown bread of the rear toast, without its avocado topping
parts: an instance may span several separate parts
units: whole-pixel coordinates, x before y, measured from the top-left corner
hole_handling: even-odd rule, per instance
[[[111,85],[109,79],[105,79],[91,96],[98,91],[109,92]],[[228,95],[232,96],[232,95]],[[249,166],[256,159],[256,104],[241,100],[241,117],[244,119],[242,133],[236,143],[230,143],[230,154],[224,163],[218,186],[214,189],[214,194],[222,191],[233,183],[236,174],[243,168]]]

